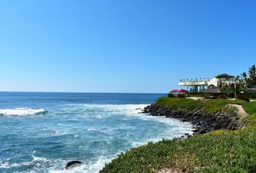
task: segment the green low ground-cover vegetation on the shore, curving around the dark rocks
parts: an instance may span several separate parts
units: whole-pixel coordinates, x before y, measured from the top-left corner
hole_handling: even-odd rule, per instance
[[[221,102],[221,103],[218,103]],[[176,102],[176,103],[174,103]],[[157,104],[180,109],[223,110],[226,104],[243,105],[251,115],[249,125],[239,130],[216,130],[182,140],[163,140],[132,148],[106,164],[101,173],[156,172],[170,167],[188,172],[256,172],[256,103],[216,99],[207,102],[158,99]],[[214,107],[214,108],[213,108]]]

